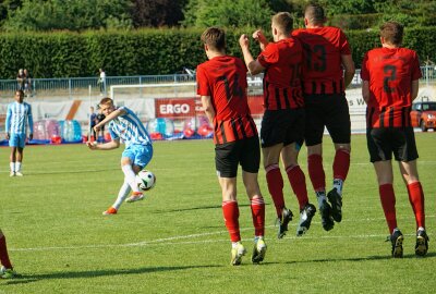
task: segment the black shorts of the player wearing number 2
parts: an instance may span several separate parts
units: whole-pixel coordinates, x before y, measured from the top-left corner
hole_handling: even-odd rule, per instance
[[[417,156],[415,134],[412,127],[380,127],[366,131],[371,162],[391,160],[408,162]]]

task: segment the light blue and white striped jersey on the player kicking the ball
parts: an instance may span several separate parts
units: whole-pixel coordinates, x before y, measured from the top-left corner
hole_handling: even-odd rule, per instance
[[[125,147],[130,145],[152,145],[152,139],[140,118],[126,107],[118,109],[124,110],[126,113],[110,121],[109,133],[112,139],[121,138]]]

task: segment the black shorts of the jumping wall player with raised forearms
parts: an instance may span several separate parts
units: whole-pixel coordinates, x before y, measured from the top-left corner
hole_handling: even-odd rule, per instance
[[[262,120],[262,148],[282,143],[284,146],[304,142],[304,108],[266,110]]]

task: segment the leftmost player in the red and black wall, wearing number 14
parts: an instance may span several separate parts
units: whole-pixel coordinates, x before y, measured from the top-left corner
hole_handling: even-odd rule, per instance
[[[197,66],[197,95],[215,130],[215,163],[222,191],[222,213],[232,241],[231,265],[240,265],[246,252],[239,229],[239,164],[242,167],[242,179],[255,229],[252,261],[258,264],[264,260],[266,253],[265,203],[257,182],[261,148],[246,97],[246,68],[242,60],[226,54],[226,35],[222,29],[206,29],[202,41],[209,60]]]

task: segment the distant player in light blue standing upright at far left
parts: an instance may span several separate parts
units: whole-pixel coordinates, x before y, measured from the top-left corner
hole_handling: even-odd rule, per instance
[[[28,139],[33,138],[34,121],[32,119],[32,107],[29,103],[23,101],[24,93],[22,90],[15,91],[15,102],[8,106],[5,132],[9,146],[11,147],[10,156],[10,176],[23,176],[21,172],[21,164],[23,162],[24,146],[27,136],[28,125]]]

